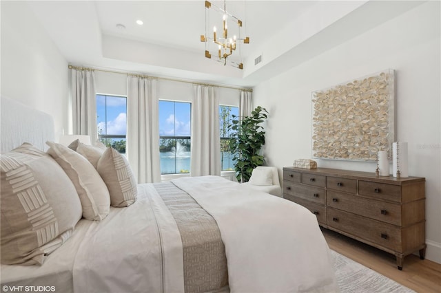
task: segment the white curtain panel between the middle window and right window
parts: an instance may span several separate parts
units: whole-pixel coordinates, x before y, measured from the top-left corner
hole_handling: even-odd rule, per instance
[[[214,87],[194,85],[192,176],[220,175],[219,101]]]

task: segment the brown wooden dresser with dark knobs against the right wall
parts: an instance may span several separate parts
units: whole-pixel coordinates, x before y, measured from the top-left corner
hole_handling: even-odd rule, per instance
[[[425,178],[338,169],[283,168],[283,197],[305,206],[318,224],[395,254],[424,259]]]

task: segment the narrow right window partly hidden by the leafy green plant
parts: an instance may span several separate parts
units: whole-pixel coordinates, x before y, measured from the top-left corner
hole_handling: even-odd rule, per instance
[[[239,107],[219,106],[220,163],[222,171],[234,170],[233,154],[228,149],[228,141],[231,136],[228,125],[232,123],[233,115],[239,116]]]

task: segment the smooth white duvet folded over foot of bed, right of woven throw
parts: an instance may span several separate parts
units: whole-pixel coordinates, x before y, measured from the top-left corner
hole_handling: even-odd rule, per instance
[[[172,182],[216,220],[231,292],[339,291],[330,250],[306,208],[216,176]]]

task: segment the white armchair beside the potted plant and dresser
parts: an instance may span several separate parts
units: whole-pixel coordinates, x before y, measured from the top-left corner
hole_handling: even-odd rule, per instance
[[[282,188],[278,180],[278,171],[273,166],[257,166],[244,186],[282,197]]]

